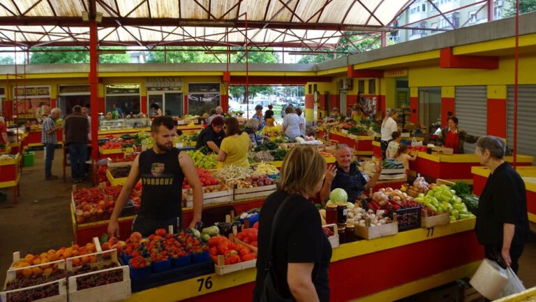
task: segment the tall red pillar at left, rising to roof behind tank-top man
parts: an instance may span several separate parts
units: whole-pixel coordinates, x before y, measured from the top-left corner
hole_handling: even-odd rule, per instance
[[[91,3],[91,1],[90,1]],[[91,159],[98,160],[98,54],[97,24],[89,21],[89,89],[91,92]],[[96,171],[94,171],[96,173]]]

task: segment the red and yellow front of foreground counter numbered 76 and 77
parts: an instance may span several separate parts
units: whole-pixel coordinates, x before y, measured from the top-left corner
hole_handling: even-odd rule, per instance
[[[394,301],[472,275],[484,258],[474,227],[475,219],[459,220],[341,245],[329,266],[330,300]],[[202,275],[127,301],[251,301],[255,275],[255,268]]]

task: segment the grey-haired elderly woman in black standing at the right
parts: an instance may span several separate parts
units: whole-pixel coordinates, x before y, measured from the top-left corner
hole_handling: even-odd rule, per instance
[[[505,143],[496,136],[482,136],[475,153],[480,164],[491,171],[480,195],[477,239],[486,257],[504,259],[517,273],[518,260],[529,238],[525,183],[503,159]]]

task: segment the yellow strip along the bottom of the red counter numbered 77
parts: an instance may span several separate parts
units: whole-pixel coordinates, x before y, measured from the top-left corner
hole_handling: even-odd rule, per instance
[[[452,270],[439,273],[437,275],[431,275],[427,278],[422,278],[413,282],[405,283],[404,285],[393,287],[383,292],[378,292],[376,294],[371,294],[369,296],[365,296],[361,299],[357,299],[354,301],[395,301],[408,296],[412,296],[414,294],[418,294],[419,292],[424,292],[428,289],[433,289],[434,287],[438,287],[440,285],[444,285],[464,277],[469,277],[473,275],[475,271],[477,271],[480,262],[481,261],[475,261],[470,264],[459,266],[457,268],[453,268]]]

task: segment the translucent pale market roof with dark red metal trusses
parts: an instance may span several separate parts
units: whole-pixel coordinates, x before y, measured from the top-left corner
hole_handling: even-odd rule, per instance
[[[346,31],[390,31],[402,0],[0,0],[0,46],[334,48]],[[247,13],[247,14],[246,14]],[[246,21],[247,17],[247,21]],[[247,25],[246,25],[247,23]],[[246,26],[248,28],[246,38]],[[228,35],[226,35],[228,33]],[[226,37],[227,36],[227,37]]]

